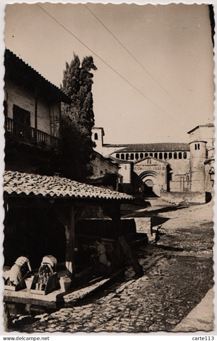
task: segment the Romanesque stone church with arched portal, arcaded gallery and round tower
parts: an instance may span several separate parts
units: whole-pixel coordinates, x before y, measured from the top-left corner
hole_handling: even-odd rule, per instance
[[[189,143],[104,144],[103,128],[93,128],[96,150],[120,165],[124,190],[174,202],[204,202],[213,194],[214,124],[188,132]]]

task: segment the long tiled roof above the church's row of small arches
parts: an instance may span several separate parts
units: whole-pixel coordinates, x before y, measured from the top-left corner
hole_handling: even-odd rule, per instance
[[[129,144],[129,145],[126,145],[125,148],[116,150],[115,153],[130,152],[130,151],[146,152],[146,151],[189,151],[189,150],[190,150],[190,147],[188,143],[163,142],[163,143]]]

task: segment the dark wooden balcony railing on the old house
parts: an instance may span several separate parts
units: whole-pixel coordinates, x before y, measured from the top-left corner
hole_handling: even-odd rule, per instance
[[[5,136],[43,149],[60,151],[60,138],[5,117]]]

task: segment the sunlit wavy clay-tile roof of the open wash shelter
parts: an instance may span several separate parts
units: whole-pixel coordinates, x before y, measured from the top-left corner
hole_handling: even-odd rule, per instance
[[[19,173],[5,170],[3,190],[8,194],[47,197],[133,199],[132,196],[57,176]]]

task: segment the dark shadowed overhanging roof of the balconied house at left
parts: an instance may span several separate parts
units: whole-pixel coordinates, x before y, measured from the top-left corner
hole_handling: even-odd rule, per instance
[[[4,65],[5,65],[6,71],[8,69],[13,73],[13,64],[14,64],[14,67],[16,68],[16,70],[18,70],[18,68],[25,68],[25,70],[29,70],[32,77],[35,77],[36,79],[38,79],[40,81],[43,81],[45,85],[53,88],[56,91],[56,93],[58,93],[60,95],[62,101],[66,102],[66,103],[71,103],[71,99],[60,88],[58,88],[56,85],[54,85],[49,80],[44,78],[38,71],[36,71],[29,64],[24,62],[23,59],[17,57],[12,51],[10,51],[9,49],[5,49]]]

